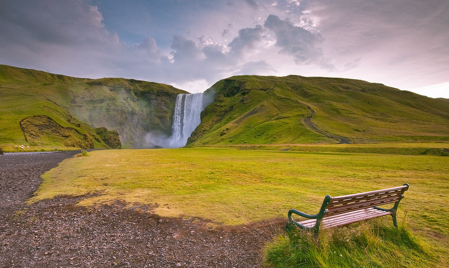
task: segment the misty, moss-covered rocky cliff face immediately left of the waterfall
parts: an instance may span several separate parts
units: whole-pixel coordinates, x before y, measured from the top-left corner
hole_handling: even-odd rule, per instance
[[[84,84],[82,84],[84,85]],[[104,78],[70,90],[69,110],[94,128],[116,130],[125,148],[148,148],[148,133],[170,136],[176,96],[185,91],[133,79]]]

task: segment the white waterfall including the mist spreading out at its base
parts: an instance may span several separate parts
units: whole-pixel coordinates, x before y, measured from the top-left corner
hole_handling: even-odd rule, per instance
[[[173,114],[173,134],[170,137],[147,134],[146,140],[165,148],[179,148],[187,144],[187,139],[201,123],[201,112],[212,103],[212,98],[204,93],[179,94],[176,97]]]

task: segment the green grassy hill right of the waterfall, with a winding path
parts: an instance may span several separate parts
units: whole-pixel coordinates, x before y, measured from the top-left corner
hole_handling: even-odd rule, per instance
[[[449,103],[342,78],[233,76],[206,91],[192,145],[449,140]],[[305,119],[313,117],[313,130]]]

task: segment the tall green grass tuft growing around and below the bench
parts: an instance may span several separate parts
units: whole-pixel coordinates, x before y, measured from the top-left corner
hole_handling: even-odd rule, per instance
[[[436,256],[430,246],[404,226],[385,219],[321,230],[318,237],[293,230],[265,247],[268,267],[430,267]]]

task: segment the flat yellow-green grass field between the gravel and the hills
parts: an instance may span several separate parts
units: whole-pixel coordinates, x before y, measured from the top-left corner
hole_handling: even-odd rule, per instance
[[[350,152],[180,148],[99,150],[64,160],[43,175],[30,201],[82,195],[81,205],[121,199],[157,205],[170,217],[238,225],[282,217],[290,208],[315,214],[325,195],[410,184],[398,211],[441,256],[449,254],[449,158]],[[414,266],[412,266],[414,267]],[[416,267],[416,266],[415,266]]]

